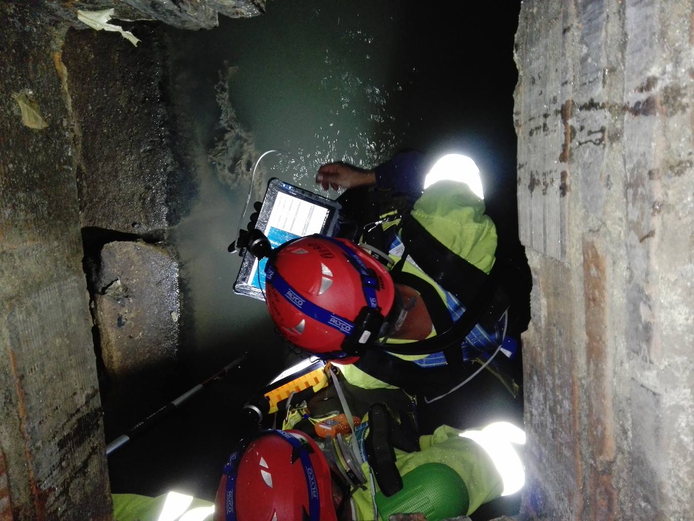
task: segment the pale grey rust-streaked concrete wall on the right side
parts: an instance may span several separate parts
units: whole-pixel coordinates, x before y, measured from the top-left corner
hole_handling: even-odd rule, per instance
[[[525,1],[525,517],[694,511],[691,1]]]

